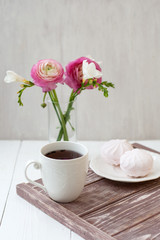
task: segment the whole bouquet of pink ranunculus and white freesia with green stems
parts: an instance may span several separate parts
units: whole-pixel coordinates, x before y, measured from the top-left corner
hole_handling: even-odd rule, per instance
[[[13,71],[7,71],[4,81],[7,83],[21,82],[21,89],[18,91],[19,106],[23,106],[23,92],[33,86],[39,86],[44,93],[43,103],[41,106],[46,107],[46,96],[48,95],[53,105],[53,110],[59,121],[59,133],[57,141],[68,141],[67,123],[70,122],[73,103],[77,96],[86,89],[98,89],[105,97],[108,97],[108,88],[114,87],[114,84],[102,81],[102,71],[100,65],[88,57],[80,57],[68,63],[64,69],[60,63],[53,59],[38,61],[31,69],[33,81],[28,81]],[[68,106],[63,112],[59,102],[56,88],[58,84],[67,84],[72,90],[68,101]],[[74,127],[70,124],[74,131]],[[56,126],[55,126],[56,128]]]

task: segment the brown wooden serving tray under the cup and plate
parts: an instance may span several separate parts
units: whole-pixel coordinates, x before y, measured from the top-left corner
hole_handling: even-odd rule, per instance
[[[137,143],[133,147],[154,151]],[[82,194],[72,203],[57,203],[30,183],[18,184],[17,194],[86,240],[160,239],[160,178],[121,183],[90,169]]]

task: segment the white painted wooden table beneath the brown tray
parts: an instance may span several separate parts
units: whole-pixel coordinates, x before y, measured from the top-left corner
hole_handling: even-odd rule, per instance
[[[134,141],[133,141],[134,142]],[[160,140],[136,141],[160,151]],[[27,161],[39,158],[47,141],[0,141],[0,239],[2,240],[82,240],[77,234],[17,196],[16,185],[26,182]],[[99,154],[103,142],[82,142],[90,159]],[[33,179],[39,171],[30,170]]]

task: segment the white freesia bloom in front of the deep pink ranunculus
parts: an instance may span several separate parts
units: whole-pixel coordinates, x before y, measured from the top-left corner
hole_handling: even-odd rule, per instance
[[[95,64],[93,62],[88,63],[87,60],[83,61],[82,71],[83,71],[83,80],[102,77],[102,73],[96,69]]]

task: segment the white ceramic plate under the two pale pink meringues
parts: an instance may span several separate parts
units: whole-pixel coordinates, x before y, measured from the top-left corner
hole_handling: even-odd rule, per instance
[[[153,169],[142,178],[132,178],[127,176],[120,167],[112,166],[106,163],[101,157],[97,157],[90,162],[91,169],[101,177],[119,181],[119,182],[144,182],[157,179],[160,177],[160,155],[149,152],[153,157]]]

